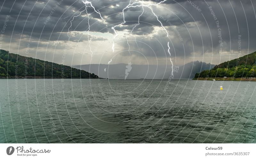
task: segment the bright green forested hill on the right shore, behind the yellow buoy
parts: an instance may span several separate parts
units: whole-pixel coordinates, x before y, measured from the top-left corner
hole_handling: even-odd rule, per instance
[[[256,52],[252,54],[239,57],[237,59],[223,62],[216,65],[211,70],[204,70],[200,74],[196,74],[195,78],[198,77],[256,77]]]

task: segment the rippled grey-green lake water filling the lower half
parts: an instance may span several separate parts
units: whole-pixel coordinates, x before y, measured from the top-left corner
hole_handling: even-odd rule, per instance
[[[167,81],[1,79],[0,143],[256,143],[256,82]]]

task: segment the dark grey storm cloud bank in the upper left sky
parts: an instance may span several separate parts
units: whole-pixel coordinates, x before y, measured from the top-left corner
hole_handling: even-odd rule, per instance
[[[22,33],[29,36],[31,35],[34,38],[41,36],[41,39],[44,40],[49,40],[50,37],[50,40],[56,40],[57,37],[52,38],[52,36],[56,36],[57,33],[60,32],[68,31],[68,27],[70,26],[69,21],[71,19],[68,21],[68,18],[65,18],[65,16],[66,14],[70,14],[71,11],[66,11],[66,8],[69,6],[65,5],[64,1],[16,1],[14,4],[13,2],[14,1],[6,1],[1,10],[1,19],[4,19],[6,15],[10,15],[5,34]],[[82,11],[84,5],[79,4],[79,11]],[[54,7],[56,7],[56,9],[54,9]],[[70,18],[71,16],[78,15],[79,11],[70,14]],[[47,19],[49,15],[51,15],[51,17]],[[71,30],[86,31],[88,28],[87,20],[87,17],[75,18]],[[90,19],[90,23],[93,26],[91,31],[98,32],[101,30],[100,32],[107,32],[103,29],[106,25],[100,21]],[[3,24],[3,21],[1,21],[1,24]]]

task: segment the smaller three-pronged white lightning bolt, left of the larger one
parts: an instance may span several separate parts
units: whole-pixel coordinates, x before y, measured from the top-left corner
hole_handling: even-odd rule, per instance
[[[88,38],[88,42],[89,42],[89,48],[90,48],[90,52],[91,52],[91,56],[93,55],[93,51],[92,51],[92,47],[91,47],[91,39],[90,39],[90,33],[89,33],[89,31],[91,30],[91,26],[90,26],[90,15],[88,14],[88,11],[87,11],[87,8],[88,7],[90,7],[90,8],[93,8],[93,10],[96,12],[96,13],[98,13],[99,15],[100,15],[100,18],[102,19],[102,20],[104,20],[103,18],[102,18],[102,16],[101,16],[101,14],[100,14],[100,11],[98,11],[98,10],[96,10],[95,8],[94,8],[94,6],[92,5],[92,2],[88,2],[88,1],[82,1],[84,4],[85,4],[85,9],[83,10],[83,11],[81,11],[77,16],[74,16],[73,18],[72,18],[72,20],[70,20],[70,26],[69,26],[69,28],[68,28],[68,33],[69,33],[69,29],[72,27],[72,21],[74,21],[74,19],[76,18],[76,17],[79,17],[81,14],[82,14],[82,12],[86,12],[86,14],[87,14],[87,16],[88,16],[88,29],[87,29],[87,38]],[[90,4],[90,5],[89,5]],[[71,36],[69,36],[68,35],[68,40],[70,39],[70,37]]]

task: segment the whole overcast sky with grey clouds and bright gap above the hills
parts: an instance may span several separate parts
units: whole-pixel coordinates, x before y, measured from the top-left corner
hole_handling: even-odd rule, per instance
[[[130,1],[91,2],[87,14],[79,0],[1,0],[1,49],[65,65],[170,65],[170,57],[175,65],[219,64],[256,51],[255,1],[167,0],[150,5],[162,27],[146,6],[159,0],[133,0],[138,2],[133,6],[140,6],[124,10],[126,23],[115,27],[116,34],[112,27],[124,22],[122,11]]]

